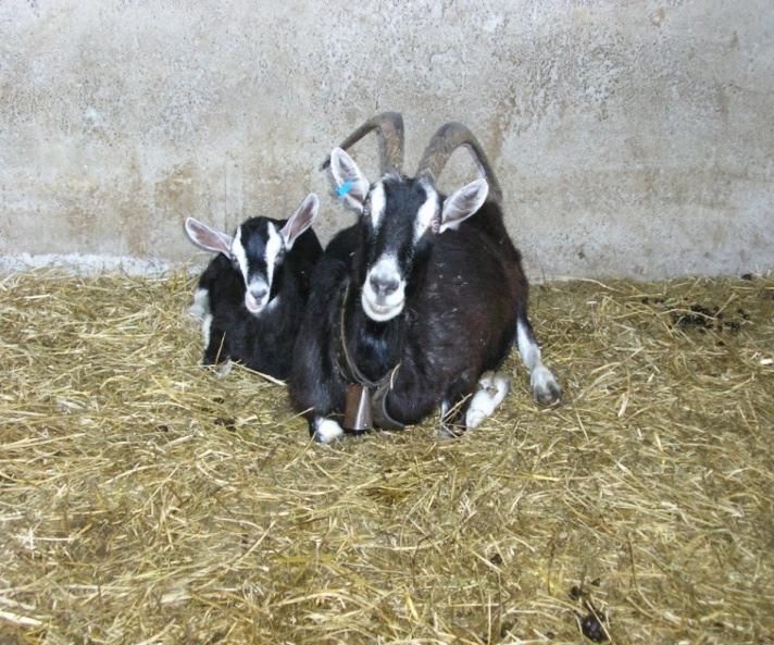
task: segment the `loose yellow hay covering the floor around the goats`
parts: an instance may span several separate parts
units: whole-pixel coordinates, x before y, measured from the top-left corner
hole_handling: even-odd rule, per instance
[[[535,288],[563,406],[332,447],[191,292],[0,282],[0,642],[774,642],[773,278]]]

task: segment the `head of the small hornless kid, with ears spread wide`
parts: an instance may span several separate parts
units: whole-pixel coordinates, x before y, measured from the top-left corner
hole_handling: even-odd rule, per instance
[[[222,252],[232,260],[245,282],[245,307],[258,315],[282,290],[285,256],[299,235],[312,225],[319,207],[317,197],[312,194],[284,226],[276,220],[251,218],[230,236],[188,218],[186,232],[197,246]]]

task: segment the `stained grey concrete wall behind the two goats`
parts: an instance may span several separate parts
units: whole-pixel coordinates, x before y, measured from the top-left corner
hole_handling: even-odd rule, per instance
[[[327,237],[316,165],[387,109],[412,172],[474,129],[532,276],[774,265],[771,0],[2,0],[0,256],[201,261],[187,215],[309,190]]]

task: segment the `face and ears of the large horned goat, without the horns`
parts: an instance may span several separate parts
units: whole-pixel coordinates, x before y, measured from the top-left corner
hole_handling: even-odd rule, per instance
[[[330,154],[338,193],[360,212],[363,258],[358,278],[365,314],[386,322],[400,314],[434,235],[457,228],[486,200],[486,179],[444,199],[430,177],[387,174],[371,185],[340,148]]]

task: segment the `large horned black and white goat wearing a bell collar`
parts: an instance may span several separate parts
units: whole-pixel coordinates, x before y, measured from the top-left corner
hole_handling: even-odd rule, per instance
[[[319,442],[341,435],[332,415],[345,408],[363,427],[349,410],[363,406],[363,392],[383,427],[416,423],[438,407],[442,430],[475,427],[509,389],[508,377],[494,371],[514,340],[535,398],[557,401],[561,389],[527,320],[527,281],[502,221],[500,187],[478,141],[465,126],[447,124],[416,176],[407,177],[398,113],[374,117],[342,146],[374,129],[383,173],[374,184],[341,148],[329,159],[338,193],[359,220],[317,264],[296,343],[290,397],[310,433]],[[435,178],[460,146],[485,178],[445,197]]]

